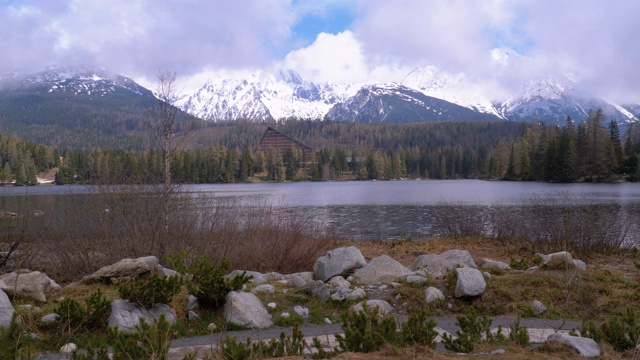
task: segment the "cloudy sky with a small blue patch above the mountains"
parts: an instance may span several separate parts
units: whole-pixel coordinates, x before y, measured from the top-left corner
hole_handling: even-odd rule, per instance
[[[400,82],[431,66],[505,92],[569,75],[640,103],[639,15],[638,0],[0,0],[0,73],[84,64],[195,86],[274,68]]]

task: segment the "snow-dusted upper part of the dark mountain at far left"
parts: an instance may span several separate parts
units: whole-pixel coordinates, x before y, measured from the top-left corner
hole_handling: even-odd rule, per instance
[[[0,87],[10,90],[30,90],[37,93],[67,94],[83,97],[105,97],[117,94],[153,98],[148,89],[130,78],[105,69],[52,66],[37,73],[12,72],[0,76]]]

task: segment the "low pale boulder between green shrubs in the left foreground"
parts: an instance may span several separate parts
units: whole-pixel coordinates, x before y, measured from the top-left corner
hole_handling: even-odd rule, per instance
[[[176,313],[169,305],[155,304],[151,309],[145,309],[127,300],[119,299],[111,303],[111,315],[108,324],[110,328],[125,333],[134,333],[136,326],[143,319],[147,324],[153,324],[164,315],[169,324],[176,323]]]

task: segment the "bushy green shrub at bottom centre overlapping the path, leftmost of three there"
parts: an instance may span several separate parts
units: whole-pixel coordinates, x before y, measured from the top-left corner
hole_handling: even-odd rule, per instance
[[[380,319],[378,308],[368,309],[366,302],[364,310],[347,311],[341,318],[344,335],[336,334],[340,351],[368,353],[397,341],[396,320],[392,316]]]

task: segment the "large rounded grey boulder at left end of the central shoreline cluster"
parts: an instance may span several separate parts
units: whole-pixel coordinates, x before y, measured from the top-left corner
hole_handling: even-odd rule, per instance
[[[317,280],[327,281],[337,275],[347,276],[366,264],[367,261],[357,247],[337,248],[316,260],[313,274]]]

